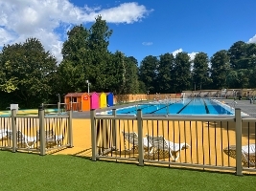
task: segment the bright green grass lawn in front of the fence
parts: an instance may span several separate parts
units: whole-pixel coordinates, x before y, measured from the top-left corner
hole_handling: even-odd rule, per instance
[[[256,176],[0,151],[0,190],[255,190]]]

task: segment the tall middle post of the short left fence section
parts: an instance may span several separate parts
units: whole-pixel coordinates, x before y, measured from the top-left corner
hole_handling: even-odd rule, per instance
[[[44,127],[44,109],[43,107],[38,108],[39,116],[39,132],[40,132],[40,155],[46,155],[45,152],[45,127]]]

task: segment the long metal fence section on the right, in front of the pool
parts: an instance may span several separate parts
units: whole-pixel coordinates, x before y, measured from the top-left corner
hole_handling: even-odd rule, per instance
[[[91,111],[92,160],[254,171],[256,118],[96,116]]]

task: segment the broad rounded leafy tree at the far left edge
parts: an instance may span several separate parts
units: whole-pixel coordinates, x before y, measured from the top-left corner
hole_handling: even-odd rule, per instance
[[[12,93],[9,102],[21,107],[37,107],[54,94],[57,60],[45,52],[38,39],[28,38],[23,44],[3,48],[0,61],[0,89]]]

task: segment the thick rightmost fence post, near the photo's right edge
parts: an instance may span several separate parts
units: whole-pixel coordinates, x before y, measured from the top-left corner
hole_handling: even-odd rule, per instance
[[[236,122],[236,175],[242,176],[242,117],[241,109],[235,109],[235,122]]]

